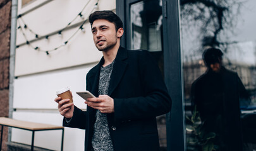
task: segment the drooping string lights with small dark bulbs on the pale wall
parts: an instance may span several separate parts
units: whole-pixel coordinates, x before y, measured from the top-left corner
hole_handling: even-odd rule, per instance
[[[89,2],[89,1],[88,1],[88,2]],[[58,34],[61,36],[62,32],[63,32],[64,30],[66,30],[66,29],[68,28],[68,26],[70,26],[71,23],[73,23],[73,21],[75,21],[76,18],[78,18],[78,16],[79,16],[80,18],[82,18],[82,20],[83,20],[85,17],[84,17],[84,15],[83,15],[82,13],[83,13],[84,9],[86,8],[86,6],[88,5],[88,2],[87,2],[87,4],[85,4],[85,6],[83,7],[83,9],[80,11],[80,13],[78,13],[78,15],[76,15],[76,17],[75,17],[72,21],[70,21],[70,23],[68,23],[68,25],[66,25],[64,28],[62,28],[61,30],[59,30],[59,31],[57,31],[57,32],[55,32],[55,33],[58,33]],[[97,0],[97,3],[94,5],[94,8],[92,9],[92,11],[91,11],[90,13],[92,13],[92,12],[94,11],[94,9],[97,9],[98,3],[99,3],[99,0]],[[36,33],[35,31],[33,31],[32,29],[30,29],[30,28],[28,27],[28,25],[25,23],[25,21],[23,20],[22,14],[18,15],[17,18],[18,18],[18,24],[19,24],[19,26],[18,26],[17,29],[21,31],[22,35],[24,36],[24,38],[25,38],[25,40],[26,40],[26,42],[25,42],[24,44],[29,45],[29,46],[30,46],[31,48],[33,48],[34,50],[38,50],[38,51],[40,51],[40,52],[45,52],[47,55],[49,55],[49,52],[52,52],[52,51],[54,51],[54,50],[58,50],[59,48],[64,47],[65,45],[67,45],[67,43],[71,40],[71,38],[73,38],[73,36],[76,35],[76,33],[77,33],[78,31],[81,30],[81,31],[85,32],[85,28],[83,28],[83,25],[84,25],[85,22],[88,20],[88,18],[87,18],[86,20],[84,20],[84,21],[82,22],[82,24],[79,26],[79,28],[73,33],[73,35],[71,35],[70,38],[68,38],[68,40],[66,40],[65,42],[61,43],[61,45],[58,45],[58,47],[55,47],[55,48],[52,48],[52,49],[49,49],[49,50],[44,50],[44,49],[40,48],[39,46],[34,46],[34,45],[32,45],[31,43],[32,43],[33,41],[35,41],[35,40],[38,40],[39,38],[46,38],[46,40],[48,40],[49,35],[42,36],[42,35],[37,34],[37,33]],[[20,20],[22,21],[23,26],[21,26]],[[35,35],[35,39],[29,41],[28,38],[27,38],[27,36],[25,35],[25,31],[24,31],[24,30],[28,30],[28,31],[30,31],[31,33],[33,33],[33,34]],[[55,34],[54,34],[54,35],[55,35]],[[21,45],[24,45],[24,44],[21,44]],[[17,46],[16,46],[16,48],[18,48],[18,47],[20,47],[20,45],[17,45]]]

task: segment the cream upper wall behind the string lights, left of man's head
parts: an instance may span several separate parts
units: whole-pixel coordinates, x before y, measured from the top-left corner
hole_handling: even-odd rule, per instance
[[[23,10],[27,11],[27,8],[33,8],[37,6],[37,3],[44,2],[46,0],[36,0],[23,8],[18,9],[18,14],[24,13]],[[19,1],[21,2],[21,1]],[[87,4],[88,3],[88,4]],[[22,20],[25,21],[28,28],[33,30],[39,35],[48,35],[54,31],[62,30],[71,20],[73,20],[82,8],[85,7],[85,11],[82,11],[85,19],[88,18],[90,12],[94,9],[94,5],[97,0],[54,0],[44,4],[40,8],[30,11],[29,13],[22,16]],[[20,3],[19,3],[20,4]],[[40,4],[40,3],[39,3]],[[114,10],[116,8],[116,1],[113,0],[99,0],[97,10],[109,9]],[[21,19],[18,19],[18,25],[23,28],[24,24]],[[71,24],[82,22],[82,18],[78,17]],[[80,24],[82,25],[82,23]],[[39,47],[41,50],[51,50],[56,48],[62,43],[66,42],[73,33],[80,27],[77,25],[75,28],[64,30],[62,36],[58,34],[49,36],[46,40],[42,38],[35,42],[30,43],[34,48]],[[29,30],[23,28],[28,41],[34,40],[35,35]],[[35,74],[38,72],[46,72],[48,70],[61,69],[66,67],[73,67],[75,65],[88,64],[99,60],[102,56],[101,52],[97,51],[92,40],[92,33],[90,31],[90,24],[88,21],[84,25],[85,33],[79,30],[73,38],[67,43],[66,46],[59,48],[53,52],[49,52],[50,55],[46,55],[45,52],[39,52],[31,48],[29,45],[21,45],[25,43],[23,33],[21,29],[17,29],[16,45],[21,45],[16,48],[15,57],[15,76],[24,76],[27,74]]]

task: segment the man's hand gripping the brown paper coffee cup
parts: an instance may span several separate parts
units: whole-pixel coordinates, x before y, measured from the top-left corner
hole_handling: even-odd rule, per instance
[[[72,118],[74,111],[74,103],[68,103],[70,99],[55,98],[54,101],[58,103],[59,113],[65,118]]]

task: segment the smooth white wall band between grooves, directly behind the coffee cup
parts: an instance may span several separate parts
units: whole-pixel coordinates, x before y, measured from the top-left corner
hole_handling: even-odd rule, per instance
[[[54,98],[56,91],[70,87],[76,106],[85,108],[83,99],[75,92],[85,91],[86,74],[95,64],[70,69],[56,70],[15,79],[13,108],[57,109]]]

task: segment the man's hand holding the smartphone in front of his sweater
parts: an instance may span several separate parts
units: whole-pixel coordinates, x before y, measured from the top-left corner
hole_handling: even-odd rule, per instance
[[[107,95],[101,95],[99,98],[88,98],[85,103],[101,113],[114,113],[114,99]]]

